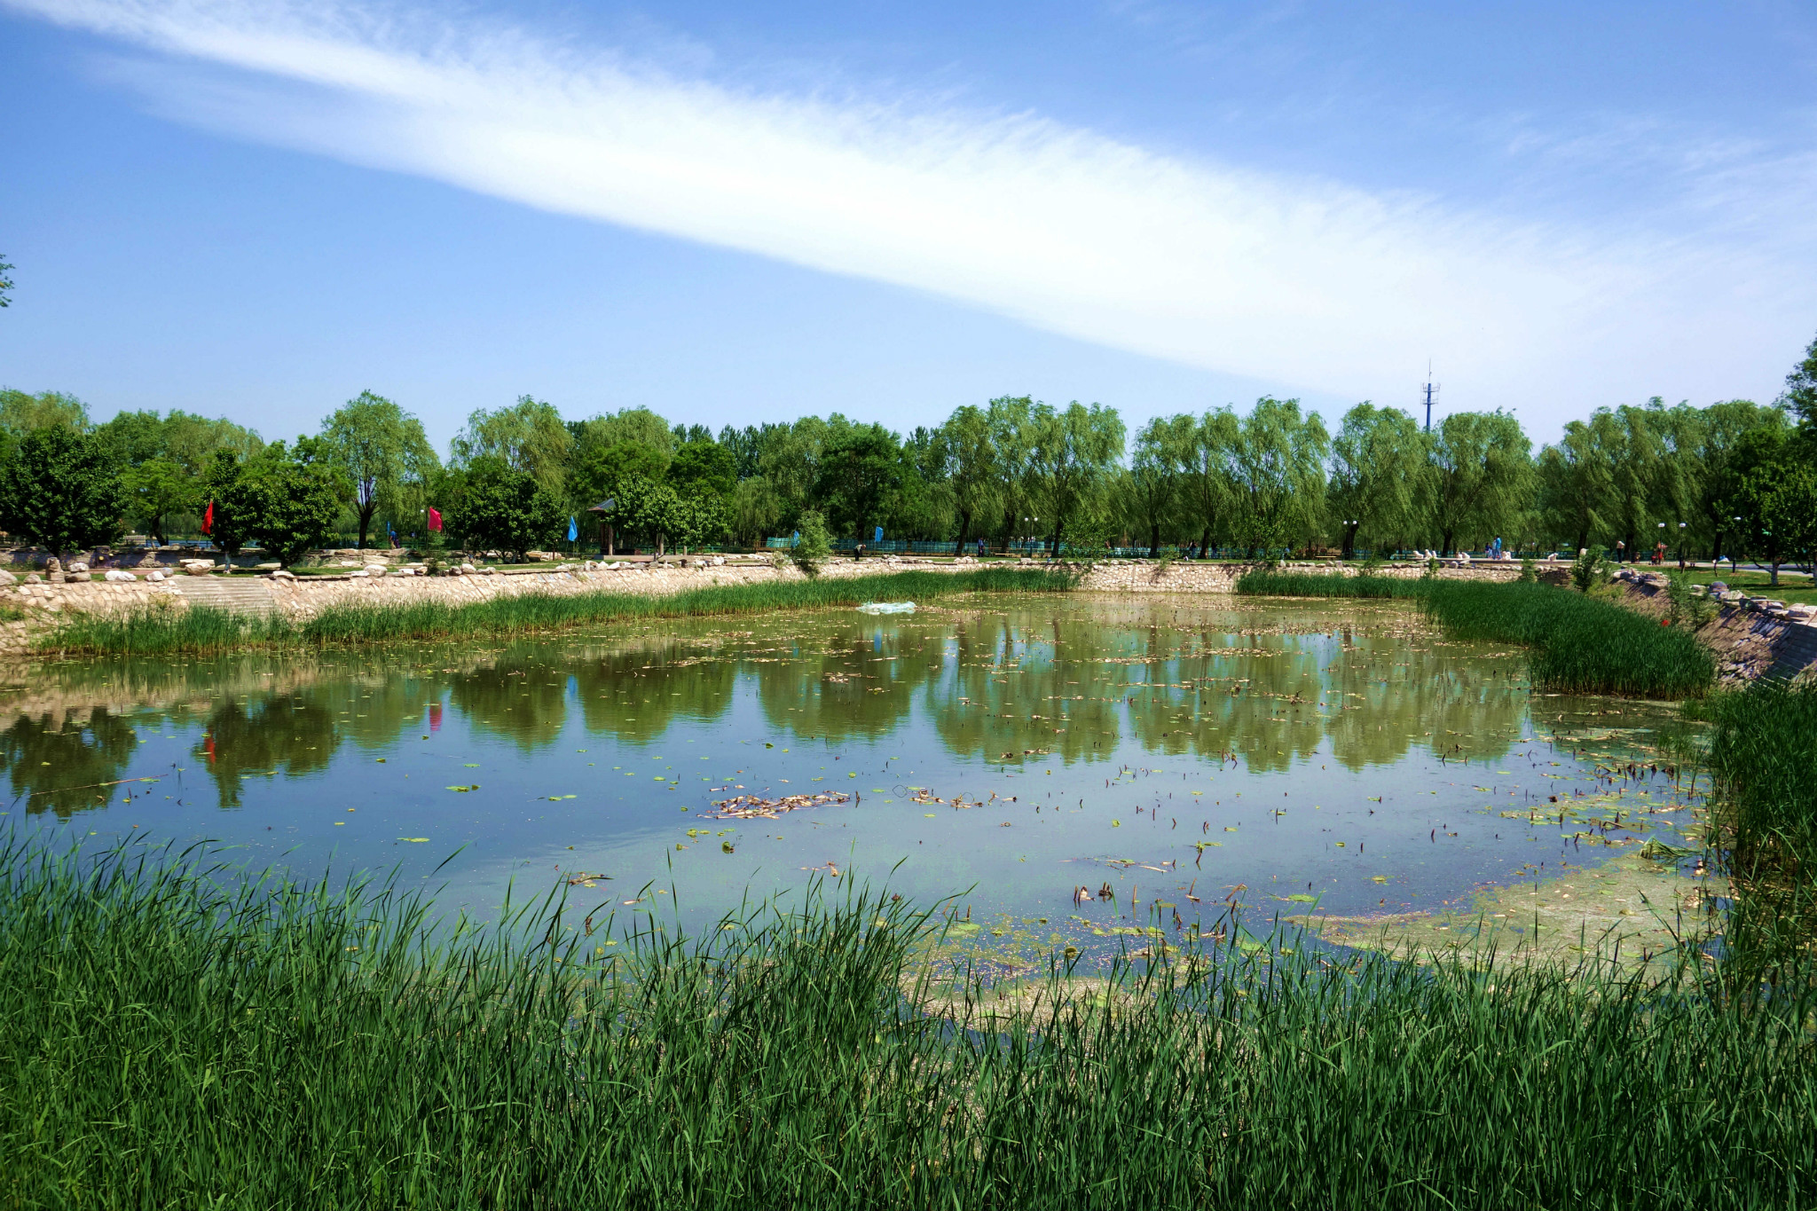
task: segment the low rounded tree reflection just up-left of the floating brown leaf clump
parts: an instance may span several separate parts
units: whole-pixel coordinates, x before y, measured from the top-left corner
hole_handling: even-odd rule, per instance
[[[660,739],[676,719],[718,719],[738,684],[736,654],[698,639],[589,654],[572,672],[587,732],[634,744]]]

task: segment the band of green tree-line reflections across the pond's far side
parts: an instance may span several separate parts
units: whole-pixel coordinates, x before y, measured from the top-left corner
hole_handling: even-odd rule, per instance
[[[53,663],[0,732],[29,812],[104,806],[147,735],[187,732],[218,804],[254,777],[383,753],[447,717],[538,753],[578,717],[647,746],[727,723],[741,694],[770,730],[829,744],[914,717],[956,759],[1152,753],[1279,772],[1321,750],[1357,772],[1415,748],[1495,757],[1528,706],[1519,654],[1450,645],[1394,605],[1177,606],[987,599],[912,617],[700,619],[494,648],[313,657]]]

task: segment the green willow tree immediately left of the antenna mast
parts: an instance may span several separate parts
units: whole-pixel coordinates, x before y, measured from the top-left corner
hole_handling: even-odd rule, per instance
[[[1326,507],[1343,527],[1343,557],[1355,557],[1357,534],[1368,534],[1372,546],[1412,528],[1426,450],[1419,425],[1399,409],[1377,409],[1363,401],[1345,412],[1332,439],[1332,474],[1325,488]]]

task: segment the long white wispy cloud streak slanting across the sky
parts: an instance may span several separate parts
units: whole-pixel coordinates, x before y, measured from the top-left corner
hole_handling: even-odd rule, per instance
[[[191,122],[1343,396],[1399,394],[1432,354],[1494,383],[1483,403],[1584,387],[1592,359],[1633,394],[1661,381],[1643,372],[1683,378],[1686,341],[1726,341],[1701,385],[1762,354],[1764,314],[1812,301],[1808,274],[1683,236],[1188,162],[1039,116],[763,94],[496,24],[0,4],[149,51],[136,84]]]

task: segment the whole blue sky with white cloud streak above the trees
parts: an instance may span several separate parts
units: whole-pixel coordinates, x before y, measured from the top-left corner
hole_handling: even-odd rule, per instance
[[[1770,399],[1817,330],[1797,4],[0,0],[0,383],[438,443],[534,394]]]

